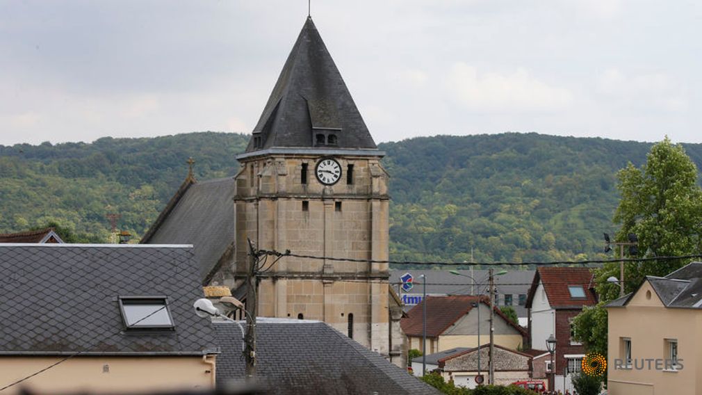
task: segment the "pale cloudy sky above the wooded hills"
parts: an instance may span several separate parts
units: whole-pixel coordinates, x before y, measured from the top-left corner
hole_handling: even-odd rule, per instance
[[[249,133],[307,0],[0,0],[0,144]],[[702,142],[702,3],[312,0],[376,141]]]

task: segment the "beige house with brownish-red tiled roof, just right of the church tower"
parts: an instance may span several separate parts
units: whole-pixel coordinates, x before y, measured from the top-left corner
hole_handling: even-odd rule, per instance
[[[402,330],[408,347],[422,351],[423,304],[427,304],[427,353],[435,354],[456,347],[478,347],[490,342],[490,305],[486,297],[476,296],[427,297],[402,318]],[[478,310],[480,319],[478,320]],[[527,331],[495,311],[495,344],[508,349],[524,346]],[[478,325],[480,340],[478,343]]]

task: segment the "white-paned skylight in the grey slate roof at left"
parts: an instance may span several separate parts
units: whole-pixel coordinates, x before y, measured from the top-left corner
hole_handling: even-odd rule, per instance
[[[119,297],[119,309],[127,330],[173,329],[166,297]]]

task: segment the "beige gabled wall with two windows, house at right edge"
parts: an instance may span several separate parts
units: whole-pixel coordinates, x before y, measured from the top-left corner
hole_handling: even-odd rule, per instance
[[[611,394],[701,395],[702,312],[694,309],[670,309],[663,306],[649,283],[644,283],[628,306],[609,308],[607,381]],[[622,338],[631,339],[632,369],[615,367],[623,359]],[[666,339],[677,339],[680,370],[656,370],[655,361],[668,358]],[[664,362],[661,367],[665,368]]]

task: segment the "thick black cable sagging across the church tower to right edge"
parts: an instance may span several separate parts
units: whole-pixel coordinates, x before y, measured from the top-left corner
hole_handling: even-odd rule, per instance
[[[303,259],[318,259],[326,261],[356,262],[364,264],[399,264],[399,265],[425,265],[425,266],[556,266],[556,265],[589,265],[589,264],[610,264],[618,262],[648,262],[648,261],[675,261],[679,259],[702,258],[702,254],[689,254],[667,257],[647,257],[647,258],[624,258],[624,259],[585,259],[582,261],[545,261],[545,262],[477,262],[477,261],[393,261],[376,259],[356,259],[356,258],[335,258],[323,257],[319,255],[293,254],[290,250],[279,252],[276,250],[258,250],[260,254],[274,255],[275,257],[292,257]]]

